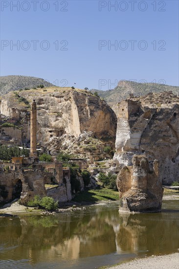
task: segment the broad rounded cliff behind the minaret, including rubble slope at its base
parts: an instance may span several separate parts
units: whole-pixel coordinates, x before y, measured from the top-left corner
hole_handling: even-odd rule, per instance
[[[114,149],[116,116],[105,101],[86,90],[45,88],[9,92],[0,104],[1,114],[17,119],[22,143],[29,143],[29,104],[37,103],[37,142],[54,154],[103,154]]]

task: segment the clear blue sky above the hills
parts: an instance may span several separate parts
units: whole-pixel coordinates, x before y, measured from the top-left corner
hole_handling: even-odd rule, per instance
[[[82,89],[113,89],[122,79],[179,86],[178,0],[0,4],[1,76]]]

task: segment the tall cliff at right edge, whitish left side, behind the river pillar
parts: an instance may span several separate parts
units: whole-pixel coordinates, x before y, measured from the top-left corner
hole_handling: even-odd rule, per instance
[[[179,97],[148,94],[113,107],[117,115],[116,154],[123,166],[132,165],[134,154],[159,160],[163,184],[179,179]],[[124,159],[126,156],[126,160]]]

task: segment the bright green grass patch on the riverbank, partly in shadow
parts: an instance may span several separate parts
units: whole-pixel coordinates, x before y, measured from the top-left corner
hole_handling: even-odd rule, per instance
[[[74,202],[100,202],[100,201],[117,201],[119,200],[118,191],[105,188],[96,190],[85,190],[75,196]]]

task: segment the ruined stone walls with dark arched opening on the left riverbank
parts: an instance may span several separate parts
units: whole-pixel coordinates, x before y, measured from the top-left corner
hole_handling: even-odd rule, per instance
[[[0,172],[0,202],[9,202],[20,197],[20,202],[27,204],[35,195],[50,196],[58,202],[70,201],[72,196],[69,180],[61,180],[57,182],[58,186],[46,190],[45,183],[50,183],[51,177],[51,173],[30,168]]]

